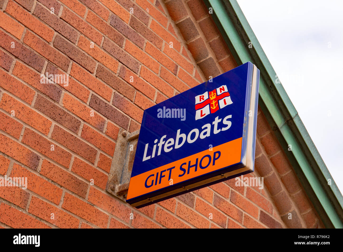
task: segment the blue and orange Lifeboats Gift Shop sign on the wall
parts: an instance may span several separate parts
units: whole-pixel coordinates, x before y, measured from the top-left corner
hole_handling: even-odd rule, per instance
[[[247,62],[144,110],[126,201],[143,207],[252,172],[259,76]]]

